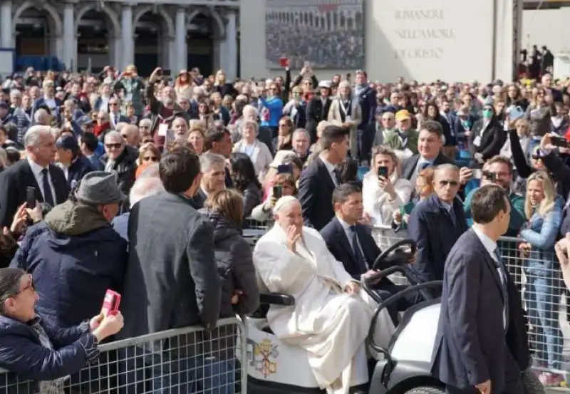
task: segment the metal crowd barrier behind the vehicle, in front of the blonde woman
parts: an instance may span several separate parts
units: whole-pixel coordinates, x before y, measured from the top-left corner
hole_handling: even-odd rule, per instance
[[[388,226],[374,226],[373,236],[380,249],[405,239],[404,231],[394,232]],[[529,345],[533,353],[533,368],[565,375],[570,370],[570,294],[561,279],[554,247],[544,258],[533,251],[526,256],[519,251],[523,239],[501,237],[499,249],[509,273],[522,294],[522,303],[529,321]],[[538,274],[525,273],[525,261],[532,259]],[[408,284],[400,274],[390,276],[396,284]],[[569,381],[570,383],[570,381]],[[565,383],[563,383],[565,385]]]

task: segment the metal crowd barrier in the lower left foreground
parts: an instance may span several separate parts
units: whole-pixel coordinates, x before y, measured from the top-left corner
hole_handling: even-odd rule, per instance
[[[247,394],[247,368],[237,361],[247,360],[247,333],[238,318],[225,318],[210,332],[176,328],[99,349],[98,363],[62,378],[56,389],[0,369],[0,393]]]

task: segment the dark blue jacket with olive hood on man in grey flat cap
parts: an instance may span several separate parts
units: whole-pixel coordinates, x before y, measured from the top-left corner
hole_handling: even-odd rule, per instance
[[[33,274],[38,313],[57,327],[97,315],[122,292],[127,244],[96,209],[66,201],[28,229],[11,266]]]

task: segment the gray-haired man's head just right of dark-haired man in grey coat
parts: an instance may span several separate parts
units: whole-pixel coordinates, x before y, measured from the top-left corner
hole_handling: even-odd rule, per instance
[[[204,207],[210,194],[226,187],[226,159],[217,153],[207,152],[200,155],[200,171],[202,180],[192,203],[196,209]]]

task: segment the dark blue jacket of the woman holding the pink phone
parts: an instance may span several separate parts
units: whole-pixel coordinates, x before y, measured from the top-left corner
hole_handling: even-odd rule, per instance
[[[41,325],[53,350],[41,345],[38,334],[32,328],[33,324]],[[19,385],[24,388],[20,393],[36,393],[24,380],[63,378],[78,372],[87,363],[96,361],[98,355],[97,341],[87,324],[57,328],[41,318],[26,324],[0,316],[0,367],[11,372],[7,382],[4,379],[0,381],[2,393],[8,393],[9,388],[13,388],[16,375]],[[6,385],[6,391],[2,390],[3,385]]]

